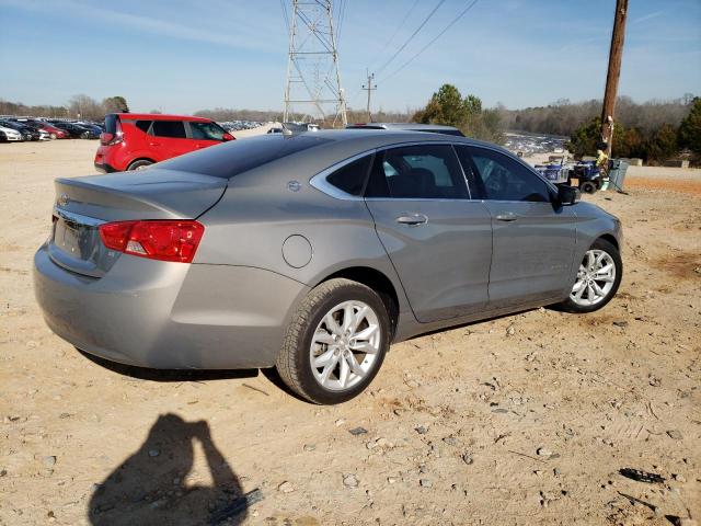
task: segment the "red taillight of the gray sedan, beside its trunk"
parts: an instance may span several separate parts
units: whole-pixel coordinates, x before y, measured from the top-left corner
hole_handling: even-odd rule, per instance
[[[193,220],[116,221],[101,225],[108,249],[151,260],[191,263],[205,227]]]

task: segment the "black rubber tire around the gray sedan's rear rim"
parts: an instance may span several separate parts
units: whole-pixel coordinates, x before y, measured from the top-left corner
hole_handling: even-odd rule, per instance
[[[378,319],[379,351],[372,368],[359,382],[344,390],[324,388],[312,373],[310,350],[312,336],[324,316],[344,301],[363,301]],[[313,288],[301,305],[285,335],[275,367],[287,386],[300,397],[319,404],[342,403],[358,396],[372,381],[389,348],[390,319],[380,296],[371,288],[350,279],[334,278]]]

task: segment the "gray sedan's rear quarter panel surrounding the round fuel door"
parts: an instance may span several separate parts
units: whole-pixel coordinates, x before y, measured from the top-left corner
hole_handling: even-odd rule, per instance
[[[363,199],[335,199],[303,180],[297,191],[284,180],[268,185],[266,181],[276,178],[264,175],[273,170],[261,174],[256,185],[246,176],[234,178],[217,206],[198,218],[205,236],[195,262],[255,266],[310,287],[340,271],[368,267],[392,282],[400,311],[410,311]],[[295,180],[294,172],[288,176]],[[286,241],[291,237],[309,243],[309,261],[286,259]]]

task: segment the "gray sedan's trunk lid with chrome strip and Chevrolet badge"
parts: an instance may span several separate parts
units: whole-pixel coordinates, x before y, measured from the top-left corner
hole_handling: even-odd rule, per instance
[[[223,194],[227,180],[148,169],[56,180],[51,260],[92,277],[107,272],[119,253],[100,239],[99,226],[134,219],[196,219]]]

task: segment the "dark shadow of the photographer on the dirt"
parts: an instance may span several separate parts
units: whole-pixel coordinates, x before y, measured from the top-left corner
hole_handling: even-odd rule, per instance
[[[194,441],[207,459],[212,487],[187,483],[194,462]],[[159,416],[138,451],[115,469],[93,493],[90,523],[102,525],[206,525],[242,496],[239,479],[221,456],[207,422],[185,422],[175,414]],[[240,524],[245,511],[228,517]]]

